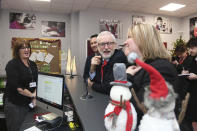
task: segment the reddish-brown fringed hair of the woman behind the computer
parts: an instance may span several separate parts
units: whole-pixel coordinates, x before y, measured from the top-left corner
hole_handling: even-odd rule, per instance
[[[17,41],[14,43],[14,46],[13,46],[14,58],[20,58],[19,50],[24,46],[29,47],[29,48],[31,47],[29,41]],[[30,48],[30,53],[31,53],[31,48]]]

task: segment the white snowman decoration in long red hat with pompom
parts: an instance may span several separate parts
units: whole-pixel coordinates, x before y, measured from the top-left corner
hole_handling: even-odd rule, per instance
[[[135,62],[149,73],[150,86],[145,88],[144,105],[148,112],[140,121],[139,131],[180,131],[175,117],[176,94],[162,75],[152,66],[141,62],[137,54],[128,56],[130,63]]]

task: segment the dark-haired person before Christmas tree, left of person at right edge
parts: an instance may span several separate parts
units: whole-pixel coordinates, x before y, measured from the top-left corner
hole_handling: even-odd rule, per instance
[[[172,63],[175,65],[178,74],[181,74],[183,70],[189,70],[192,57],[188,54],[186,45],[178,45],[174,52],[176,57],[172,60]]]

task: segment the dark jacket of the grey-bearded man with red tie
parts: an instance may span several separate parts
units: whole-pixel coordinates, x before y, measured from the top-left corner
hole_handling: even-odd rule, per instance
[[[121,50],[115,50],[107,65],[103,68],[103,81],[101,80],[101,66],[96,67],[96,76],[92,80],[94,82],[92,89],[101,93],[109,94],[111,85],[110,82],[114,81],[113,66],[115,63],[125,63],[127,65],[127,57]]]

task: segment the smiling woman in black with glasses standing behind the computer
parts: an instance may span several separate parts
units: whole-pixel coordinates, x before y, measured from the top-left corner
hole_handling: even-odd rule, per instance
[[[29,42],[17,42],[14,58],[6,65],[7,83],[4,95],[4,112],[8,131],[19,131],[33,102],[35,106],[37,66],[29,60]]]

